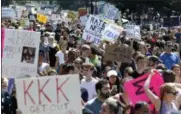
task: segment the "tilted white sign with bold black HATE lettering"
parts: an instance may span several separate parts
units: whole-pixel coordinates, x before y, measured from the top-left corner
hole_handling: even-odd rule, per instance
[[[102,19],[89,15],[82,38],[87,42],[92,42],[95,45],[99,45],[102,38],[102,32],[107,25],[108,24]]]

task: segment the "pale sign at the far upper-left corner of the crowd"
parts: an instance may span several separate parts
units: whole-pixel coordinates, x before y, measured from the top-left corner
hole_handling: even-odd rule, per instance
[[[16,18],[16,11],[12,8],[2,8],[2,18]]]

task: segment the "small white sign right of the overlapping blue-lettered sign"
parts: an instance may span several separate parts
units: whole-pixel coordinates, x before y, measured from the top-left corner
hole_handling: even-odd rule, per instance
[[[140,27],[137,25],[126,25],[126,37],[140,40]]]

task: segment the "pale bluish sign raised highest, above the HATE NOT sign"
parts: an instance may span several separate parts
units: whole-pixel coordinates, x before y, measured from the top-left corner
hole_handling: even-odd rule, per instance
[[[119,10],[114,7],[113,5],[107,4],[105,5],[106,8],[104,8],[104,18],[108,18],[111,20],[114,20],[117,18],[117,15],[119,13]]]

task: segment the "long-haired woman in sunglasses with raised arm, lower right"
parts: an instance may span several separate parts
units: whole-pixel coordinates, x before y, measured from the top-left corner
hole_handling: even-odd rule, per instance
[[[154,104],[156,111],[159,114],[167,114],[172,111],[178,111],[179,99],[178,88],[181,88],[181,84],[165,83],[160,88],[160,97],[155,95],[149,88],[154,71],[152,70],[150,75],[144,84],[144,90],[150,101]]]

